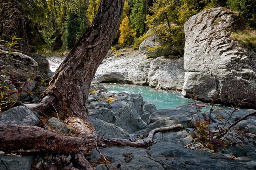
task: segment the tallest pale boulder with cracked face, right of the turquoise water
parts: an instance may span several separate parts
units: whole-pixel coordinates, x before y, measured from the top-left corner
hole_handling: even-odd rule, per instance
[[[246,29],[240,14],[213,8],[192,16],[185,24],[184,86],[182,94],[199,100],[220,98],[222,104],[246,100],[256,107],[256,54],[230,37]]]

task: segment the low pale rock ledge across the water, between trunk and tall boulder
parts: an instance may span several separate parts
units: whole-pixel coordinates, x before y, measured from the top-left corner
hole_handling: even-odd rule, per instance
[[[108,53],[95,74],[95,80],[103,83],[127,83],[149,85],[164,90],[182,90],[184,74],[182,57],[162,56],[153,59],[147,58],[140,51],[122,49]]]

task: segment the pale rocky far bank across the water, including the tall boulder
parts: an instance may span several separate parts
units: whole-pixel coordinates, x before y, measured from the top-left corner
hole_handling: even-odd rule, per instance
[[[235,31],[246,28],[238,12],[206,10],[184,25],[184,57],[171,49],[149,50],[153,44],[161,44],[158,35],[152,34],[140,44],[140,51],[110,51],[95,78],[182,90],[186,98],[196,95],[203,102],[214,99],[215,103],[255,109],[256,53],[232,38]],[[241,103],[244,99],[246,102]]]

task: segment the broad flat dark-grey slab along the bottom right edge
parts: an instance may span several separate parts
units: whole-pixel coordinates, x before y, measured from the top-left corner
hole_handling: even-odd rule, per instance
[[[111,169],[121,170],[240,170],[256,168],[256,157],[248,156],[245,159],[230,160],[229,157],[191,150],[180,147],[175,143],[156,143],[147,150],[131,147],[107,147],[100,149],[111,163]],[[126,162],[125,156],[132,155],[130,162]],[[86,159],[97,162],[100,158],[94,149],[86,155]],[[119,165],[118,165],[119,164]],[[95,163],[95,170],[106,170],[104,164]]]

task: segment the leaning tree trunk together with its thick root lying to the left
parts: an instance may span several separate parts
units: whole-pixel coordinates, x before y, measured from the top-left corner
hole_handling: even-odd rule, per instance
[[[54,104],[59,117],[76,129],[76,136],[56,134],[40,127],[0,124],[0,150],[74,153],[80,169],[92,169],[81,156],[104,140],[96,135],[88,118],[86,102],[94,74],[115,37],[123,6],[124,0],[102,0],[92,25],[52,76],[42,102],[28,105],[40,112]],[[12,136],[6,137],[8,134]]]

